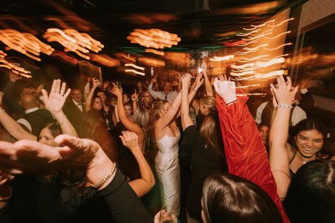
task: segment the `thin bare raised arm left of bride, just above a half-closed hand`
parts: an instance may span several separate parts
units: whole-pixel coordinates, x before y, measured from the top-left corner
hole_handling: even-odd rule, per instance
[[[114,88],[112,88],[110,92],[112,92],[114,95],[117,96],[117,112],[119,114],[119,120],[122,122],[124,127],[126,127],[129,131],[134,132],[136,133],[136,135],[139,136],[139,145],[142,147],[144,140],[144,131],[138,124],[134,123],[134,121],[131,121],[126,116],[126,112],[124,111],[124,105],[122,102],[121,89],[117,88],[117,85],[114,85]]]

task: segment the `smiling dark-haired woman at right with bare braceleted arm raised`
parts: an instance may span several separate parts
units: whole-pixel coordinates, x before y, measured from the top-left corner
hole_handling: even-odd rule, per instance
[[[270,131],[270,163],[278,186],[281,198],[286,197],[290,181],[295,173],[306,164],[315,159],[324,157],[320,152],[327,140],[327,131],[322,123],[313,119],[300,121],[294,128],[293,138],[295,145],[287,143],[290,109],[295,98],[298,86],[293,90],[288,77],[288,83],[281,76],[277,78],[276,88],[271,84],[271,92],[274,95],[274,121]],[[327,159],[335,157],[326,156]]]

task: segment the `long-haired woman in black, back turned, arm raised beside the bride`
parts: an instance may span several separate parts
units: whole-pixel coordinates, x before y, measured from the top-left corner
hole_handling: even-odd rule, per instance
[[[226,172],[227,163],[223,155],[222,143],[216,126],[216,119],[208,114],[199,126],[199,131],[189,116],[189,83],[191,76],[182,77],[182,129],[184,131],[180,144],[179,157],[191,159],[192,180],[187,196],[187,222],[201,222],[201,192],[204,181],[210,174]],[[199,79],[195,91],[200,87]],[[221,140],[222,141],[222,140]]]

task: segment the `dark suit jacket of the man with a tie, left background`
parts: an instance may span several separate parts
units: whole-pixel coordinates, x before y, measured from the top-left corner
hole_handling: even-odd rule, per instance
[[[82,103],[82,107],[85,109],[84,103]],[[81,121],[83,120],[83,112],[74,104],[72,99],[66,102],[63,110],[67,119],[69,119],[78,133],[81,128]]]

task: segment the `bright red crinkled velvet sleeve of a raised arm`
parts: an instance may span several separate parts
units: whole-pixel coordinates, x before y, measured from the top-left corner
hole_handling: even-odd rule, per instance
[[[249,113],[247,100],[247,96],[237,97],[236,102],[227,105],[216,96],[228,171],[263,188],[274,200],[283,222],[290,222],[277,194],[265,145]]]

